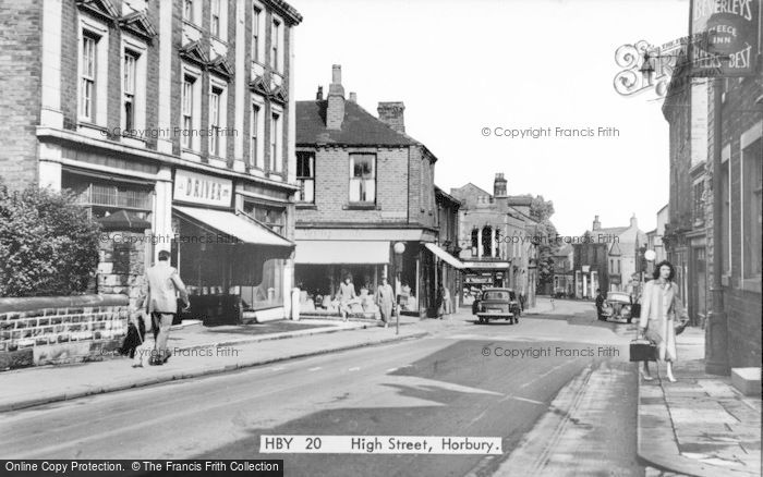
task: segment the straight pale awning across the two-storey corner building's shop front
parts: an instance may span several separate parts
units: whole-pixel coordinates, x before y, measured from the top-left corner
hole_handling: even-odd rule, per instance
[[[296,241],[294,264],[389,264],[389,242]]]

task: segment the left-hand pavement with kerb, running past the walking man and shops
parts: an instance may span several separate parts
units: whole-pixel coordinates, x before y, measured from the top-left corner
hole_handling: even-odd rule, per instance
[[[0,412],[428,334],[413,323],[402,318],[399,334],[393,326],[328,320],[174,327],[168,342],[173,356],[162,366],[132,368],[132,359],[108,355],[102,360],[0,372]]]

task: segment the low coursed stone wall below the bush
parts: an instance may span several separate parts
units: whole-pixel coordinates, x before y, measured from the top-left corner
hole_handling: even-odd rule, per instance
[[[0,298],[0,370],[112,356],[128,304],[125,295]]]

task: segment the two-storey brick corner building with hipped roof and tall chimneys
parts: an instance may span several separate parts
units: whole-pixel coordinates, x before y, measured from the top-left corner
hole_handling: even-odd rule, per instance
[[[318,88],[315,99],[296,101],[295,279],[311,294],[335,296],[347,276],[359,294],[388,277],[403,310],[425,316],[436,311],[435,254],[448,254],[437,245],[437,158],[405,133],[404,109],[379,102],[378,118],[363,109],[354,93],[346,97],[340,65],[326,98]],[[439,204],[456,207],[443,195]],[[404,246],[401,260],[396,245]]]

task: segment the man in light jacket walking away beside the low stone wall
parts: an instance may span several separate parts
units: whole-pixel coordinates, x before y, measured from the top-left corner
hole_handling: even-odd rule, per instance
[[[185,307],[191,306],[189,294],[185,291],[183,281],[180,280],[178,270],[170,267],[170,253],[159,252],[159,260],[146,270],[146,280],[143,285],[143,294],[138,301],[138,308],[143,308],[148,303],[148,313],[152,317],[152,327],[156,344],[152,353],[152,364],[162,365],[170,358],[170,351],[167,348],[167,340],[170,337],[172,318],[178,313],[178,297],[183,301]]]

